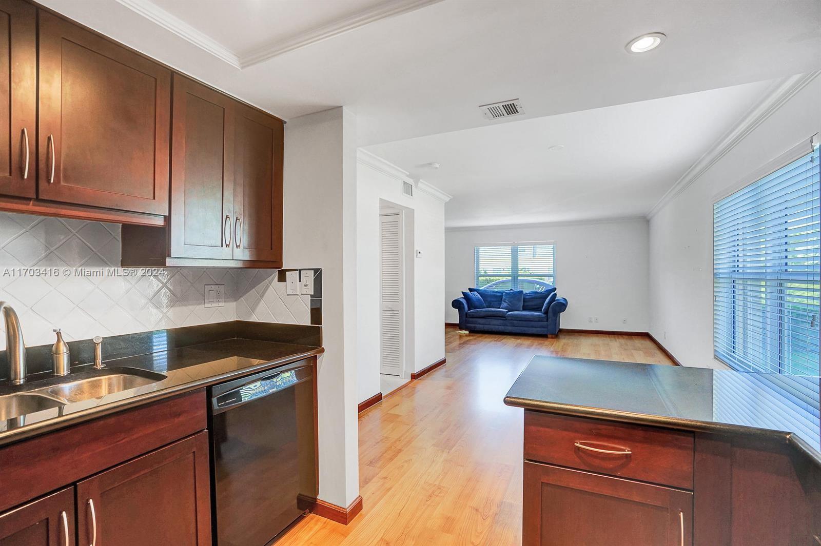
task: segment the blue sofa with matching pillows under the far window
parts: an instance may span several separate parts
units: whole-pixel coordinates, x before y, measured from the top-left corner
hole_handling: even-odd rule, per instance
[[[459,312],[459,328],[471,332],[547,334],[548,338],[555,338],[559,332],[559,316],[567,308],[567,300],[557,297],[555,286],[528,292],[469,290],[467,297],[454,299],[451,306]],[[476,300],[477,294],[481,299]]]

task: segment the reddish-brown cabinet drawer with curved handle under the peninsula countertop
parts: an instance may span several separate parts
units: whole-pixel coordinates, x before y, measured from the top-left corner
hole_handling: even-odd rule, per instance
[[[525,459],[693,489],[693,435],[525,411]]]

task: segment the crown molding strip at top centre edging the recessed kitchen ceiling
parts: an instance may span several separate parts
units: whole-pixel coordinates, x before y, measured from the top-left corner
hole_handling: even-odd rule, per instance
[[[133,0],[131,0],[133,1]],[[260,62],[268,61],[273,57],[278,57],[295,49],[305,48],[314,43],[346,34],[351,30],[356,30],[362,26],[369,25],[378,20],[389,19],[403,13],[416,11],[421,7],[430,6],[442,0],[406,0],[406,2],[385,2],[369,10],[361,11],[355,15],[334,21],[328,25],[323,25],[318,29],[310,30],[305,34],[300,34],[291,39],[281,42],[270,43],[262,48],[255,49],[240,57],[242,68],[254,66]]]

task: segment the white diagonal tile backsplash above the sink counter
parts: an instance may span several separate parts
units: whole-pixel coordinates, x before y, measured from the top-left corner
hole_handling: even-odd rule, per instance
[[[119,264],[118,224],[0,212],[0,300],[20,316],[26,345],[52,343],[53,328],[89,339],[237,319],[310,324],[310,297],[287,295],[276,270],[183,267],[135,276]],[[43,275],[46,268],[58,274]],[[204,307],[204,284],[225,284],[225,307]]]

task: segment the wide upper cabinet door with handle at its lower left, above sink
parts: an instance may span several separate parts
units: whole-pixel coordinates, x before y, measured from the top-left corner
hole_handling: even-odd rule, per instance
[[[39,198],[168,213],[171,71],[39,12]]]

